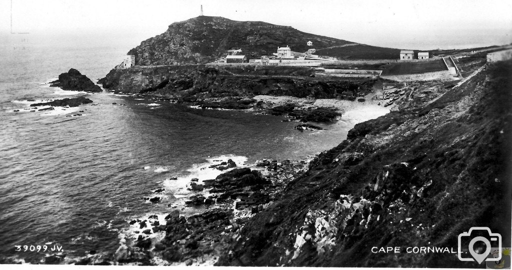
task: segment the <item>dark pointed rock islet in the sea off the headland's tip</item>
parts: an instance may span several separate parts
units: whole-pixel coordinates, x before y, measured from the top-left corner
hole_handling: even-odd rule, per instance
[[[61,73],[58,80],[50,82],[50,87],[60,87],[69,91],[102,92],[101,87],[75,69]]]

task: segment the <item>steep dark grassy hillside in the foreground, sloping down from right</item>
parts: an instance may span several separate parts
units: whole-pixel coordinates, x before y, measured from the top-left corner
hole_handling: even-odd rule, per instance
[[[430,104],[356,125],[245,224],[218,264],[478,267],[406,247],[456,251],[475,226],[510,246],[511,73],[510,61],[490,65]]]

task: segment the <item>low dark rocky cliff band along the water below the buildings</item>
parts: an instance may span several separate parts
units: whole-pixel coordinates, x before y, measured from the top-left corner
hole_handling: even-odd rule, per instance
[[[229,67],[215,65],[169,65],[113,69],[98,83],[114,92],[139,94],[184,102],[201,108],[270,109],[274,115],[297,119],[332,120],[333,111],[272,108],[257,102],[258,95],[354,101],[374,91],[380,79],[315,78],[315,69],[295,66]],[[321,120],[322,121],[322,120]]]

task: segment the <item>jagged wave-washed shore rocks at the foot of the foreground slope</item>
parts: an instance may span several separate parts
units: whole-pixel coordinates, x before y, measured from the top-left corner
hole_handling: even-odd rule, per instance
[[[312,159],[312,158],[310,158]],[[255,214],[264,211],[283,194],[286,186],[308,169],[309,160],[261,160],[241,167],[232,160],[211,165],[220,173],[215,179],[191,178],[184,205],[169,205],[169,214],[150,215],[127,221],[135,230],[132,246],[122,246],[110,259],[94,256],[74,261],[76,265],[211,265],[239,238],[240,230]],[[176,179],[176,178],[175,178]],[[152,198],[160,202],[157,189]],[[151,198],[144,198],[151,200]],[[179,208],[194,209],[187,215]],[[134,236],[135,237],[135,236]]]

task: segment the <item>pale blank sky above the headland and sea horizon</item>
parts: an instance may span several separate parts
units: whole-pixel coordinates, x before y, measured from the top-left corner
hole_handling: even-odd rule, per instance
[[[109,37],[136,46],[172,22],[197,17],[201,5],[207,16],[261,20],[382,47],[458,49],[512,42],[510,0],[0,0],[0,33],[11,31],[12,14],[13,32]]]

